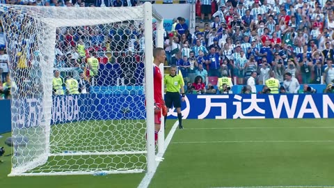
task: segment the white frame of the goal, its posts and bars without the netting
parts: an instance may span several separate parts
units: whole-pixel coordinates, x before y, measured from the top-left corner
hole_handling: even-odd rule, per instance
[[[6,13],[8,11],[8,8],[22,8],[22,13],[28,14],[30,17],[33,17],[34,19],[38,19],[42,24],[45,24],[48,28],[50,28],[50,31],[54,32],[49,35],[50,38],[47,40],[49,41],[56,41],[56,28],[62,27],[62,26],[81,26],[82,23],[87,24],[109,24],[113,22],[123,22],[127,20],[135,20],[135,19],[142,19],[144,22],[144,36],[145,36],[145,87],[150,89],[145,89],[145,100],[146,100],[146,130],[147,130],[147,173],[154,173],[157,168],[157,164],[155,161],[155,155],[156,155],[156,146],[154,144],[154,84],[153,84],[153,71],[152,71],[152,63],[153,63],[153,29],[152,29],[152,20],[155,19],[157,22],[157,47],[163,47],[164,46],[164,19],[157,13],[154,8],[152,8],[152,4],[150,2],[145,2],[143,7],[143,13],[138,11],[136,8],[132,7],[120,7],[120,8],[107,8],[107,7],[98,7],[98,8],[63,8],[63,7],[36,7],[34,9],[34,13],[31,14],[29,11],[24,10],[31,10],[31,6],[11,6],[11,5],[4,5],[0,4],[0,12],[2,14]],[[70,9],[77,9],[73,13],[68,11]],[[79,10],[78,10],[79,9]],[[85,11],[85,10],[91,10],[91,11]],[[92,11],[93,10],[93,11]],[[96,10],[94,12],[94,10]],[[118,10],[120,12],[128,13],[124,15],[120,15],[119,17],[105,17],[106,13],[112,11],[112,10]],[[75,12],[80,12],[80,18],[75,17],[75,19],[67,19],[71,15],[74,15]],[[92,14],[94,12],[94,14]],[[56,15],[56,16],[55,16]],[[66,19],[63,19],[65,17]],[[6,34],[5,34],[6,37]],[[6,40],[6,42],[8,42]],[[49,47],[54,50],[54,43],[49,42]],[[6,44],[7,45],[7,44]],[[53,46],[52,46],[53,45]],[[49,56],[50,59],[54,59],[54,54],[51,53]],[[51,64],[48,64],[51,65]],[[164,75],[164,65],[160,66],[161,73]],[[50,77],[53,77],[53,72],[51,69],[46,70],[47,75]],[[49,86],[45,87],[49,89],[50,95],[44,96],[45,101],[52,101],[52,95],[51,95],[51,84],[48,83]],[[161,88],[164,92],[164,86]],[[13,105],[13,101],[12,101]],[[46,113],[51,114],[51,109],[46,109]],[[12,112],[13,113],[13,112]],[[12,116],[12,122],[13,122],[13,116]],[[157,155],[163,155],[164,153],[164,121],[162,121],[161,124],[161,132],[159,132],[159,143],[158,143],[158,152]],[[46,139],[50,138],[50,123],[49,119],[45,120],[45,125],[41,126],[49,126],[47,127],[47,131],[45,132]],[[13,123],[12,123],[12,128]],[[15,147],[13,148],[14,154],[15,154]],[[45,146],[45,150],[49,152],[49,144]],[[135,152],[134,152],[135,153]],[[100,153],[97,153],[96,155],[99,155]],[[108,153],[106,153],[108,154]],[[126,153],[125,153],[126,154]],[[93,153],[68,153],[64,155],[95,155]],[[54,156],[49,152],[49,155],[47,158]],[[72,171],[72,172],[40,172],[40,173],[24,173],[25,171],[29,171],[36,166],[40,166],[42,164],[45,164],[47,159],[45,159],[44,156],[38,157],[38,162],[28,162],[25,164],[24,169],[20,169],[17,171],[15,167],[12,167],[12,171],[8,176],[31,176],[31,175],[86,175],[86,174],[92,174],[93,172],[84,172],[84,171]],[[106,173],[141,173],[143,171],[106,171]]]

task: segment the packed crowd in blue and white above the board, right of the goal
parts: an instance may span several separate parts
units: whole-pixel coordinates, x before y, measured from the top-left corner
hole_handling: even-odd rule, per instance
[[[220,93],[232,84],[246,85],[243,93],[314,93],[308,84],[321,83],[333,91],[332,1],[228,0],[217,10],[214,3],[198,1],[204,28],[189,33],[181,18],[165,40],[168,64],[180,66],[189,93],[215,88],[210,82]]]

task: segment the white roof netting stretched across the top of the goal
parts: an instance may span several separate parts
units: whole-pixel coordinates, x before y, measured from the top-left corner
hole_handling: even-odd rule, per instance
[[[84,21],[87,25],[109,24],[116,22],[125,22],[127,20],[143,19],[144,6],[134,7],[71,7],[70,11],[67,7],[55,6],[17,6],[4,5],[0,6],[2,12],[14,10],[17,13],[23,13],[35,19],[56,27],[63,26],[81,26],[80,22]],[[131,14],[129,14],[131,13]],[[79,16],[78,16],[79,15]],[[109,15],[106,17],[106,15]],[[73,17],[73,19],[66,19]],[[152,17],[158,22],[163,18],[157,11],[152,8]]]

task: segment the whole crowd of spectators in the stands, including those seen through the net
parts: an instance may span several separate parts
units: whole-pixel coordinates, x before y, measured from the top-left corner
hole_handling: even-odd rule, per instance
[[[133,0],[6,3],[77,7],[140,4]],[[183,17],[175,18],[172,31],[165,32],[166,64],[179,67],[186,93],[232,93],[233,85],[245,85],[241,93],[314,93],[308,84],[322,83],[327,85],[324,93],[329,93],[334,91],[333,10],[334,3],[324,0],[198,0],[196,13],[200,23],[193,33]],[[19,16],[13,20],[8,26],[13,33],[20,33],[20,22],[29,22]],[[35,36],[21,33],[12,36],[15,42],[11,43],[27,48],[26,53],[18,52],[15,56],[17,68],[24,69],[33,65],[33,56],[38,52],[31,42]],[[122,84],[138,84],[124,79],[135,71],[133,64],[143,60],[141,24],[67,27],[57,29],[56,33],[54,67],[79,72],[78,76],[73,72],[66,75],[54,72],[54,94],[63,93],[57,91],[59,86],[66,86],[65,93],[88,93],[92,81],[103,76],[99,75],[101,63],[120,63],[122,70],[126,70],[122,73]],[[10,82],[6,77],[9,59],[4,41],[0,27],[0,91],[6,91],[6,81]],[[257,84],[264,85],[262,91],[256,91]],[[2,98],[10,97],[2,93]]]

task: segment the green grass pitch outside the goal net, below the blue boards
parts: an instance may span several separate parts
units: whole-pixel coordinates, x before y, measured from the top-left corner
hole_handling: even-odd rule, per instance
[[[175,120],[167,121],[166,134]],[[150,187],[334,187],[333,119],[184,120]],[[126,127],[125,127],[126,128]],[[2,134],[0,146],[10,134]],[[10,177],[1,187],[137,187],[145,173]]]

